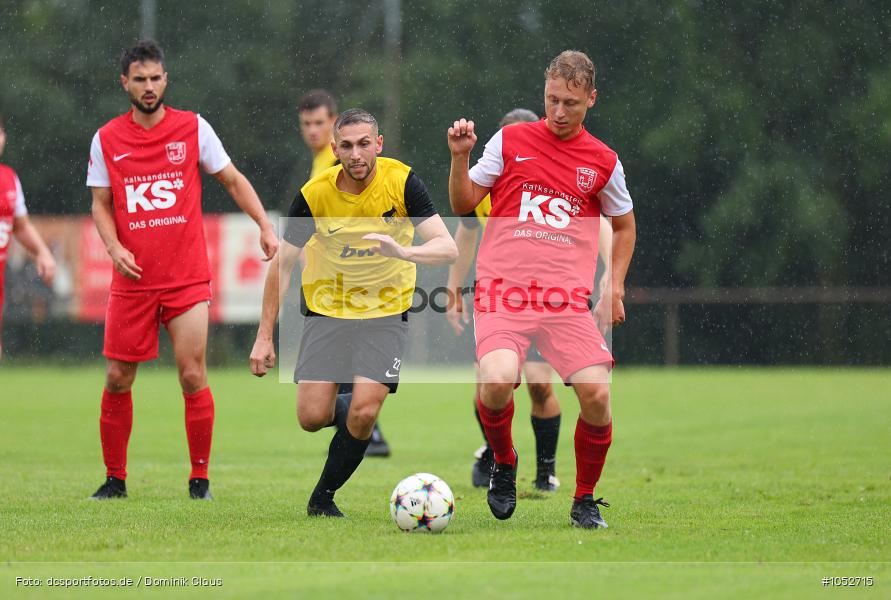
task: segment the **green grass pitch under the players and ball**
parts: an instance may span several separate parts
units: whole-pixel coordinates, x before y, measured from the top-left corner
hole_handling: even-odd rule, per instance
[[[117,593],[27,588],[16,577],[199,576],[222,579],[215,597],[891,597],[891,371],[617,372],[598,486],[610,529],[600,531],[568,525],[577,404],[566,389],[563,487],[547,497],[532,488],[528,399],[518,396],[511,520],[492,518],[470,486],[480,435],[468,384],[402,386],[381,417],[393,457],[366,460],[338,494],[348,519],[319,520],[304,511],[331,430],[301,431],[295,387],[274,377],[211,373],[216,500],[199,503],[186,493],[175,374],[144,367],[130,498],[94,503],[101,369],[0,367],[0,593]],[[417,471],[455,492],[441,535],[403,534],[390,520],[390,492]],[[875,579],[824,588],[827,576]]]

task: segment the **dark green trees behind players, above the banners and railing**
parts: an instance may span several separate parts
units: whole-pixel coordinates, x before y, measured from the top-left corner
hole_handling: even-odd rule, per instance
[[[168,102],[215,126],[271,208],[308,172],[305,90],[384,117],[446,211],[448,124],[473,117],[485,139],[510,108],[541,112],[545,66],[576,48],[598,67],[587,126],[619,152],[636,200],[632,285],[891,285],[885,2],[403,0],[398,63],[379,2],[158,7]],[[127,108],[116,60],[139,28],[135,3],[0,8],[3,160],[32,212],[88,211],[90,138]],[[233,208],[206,189],[207,210]]]

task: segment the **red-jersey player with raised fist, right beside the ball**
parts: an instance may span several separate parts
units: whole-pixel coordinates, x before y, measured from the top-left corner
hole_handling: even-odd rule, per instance
[[[544,100],[546,119],[496,133],[473,169],[473,121],[455,121],[448,131],[449,197],[452,210],[465,214],[486,194],[492,196],[474,299],[482,382],[478,408],[495,454],[489,508],[498,519],[510,518],[516,508],[513,390],[534,340],[579,399],[570,522],[595,529],[607,526],[598,508],[607,503],[593,494],[612,441],[608,379],[614,362],[587,300],[604,214],[613,226],[606,320],[624,322],[634,213],[616,153],[583,126],[597,100],[591,60],[576,51],[557,56],[545,71]],[[595,313],[604,313],[603,301]]]

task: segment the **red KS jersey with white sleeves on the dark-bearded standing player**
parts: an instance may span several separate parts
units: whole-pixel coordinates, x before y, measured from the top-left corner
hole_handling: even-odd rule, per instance
[[[165,108],[144,129],[127,112],[93,137],[87,186],[110,187],[121,244],[142,267],[139,280],[114,272],[114,291],[176,288],[210,281],[199,164],[216,173],[229,157],[199,115]]]

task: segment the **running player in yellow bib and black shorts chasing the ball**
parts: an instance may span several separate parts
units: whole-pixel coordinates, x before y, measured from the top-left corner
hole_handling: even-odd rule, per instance
[[[299,250],[307,256],[302,295],[304,328],[294,380],[297,418],[306,431],[335,425],[328,458],[307,514],[342,517],[334,494],[358,468],[388,393],[396,390],[415,289],[415,263],[453,262],[458,248],[414,171],[378,158],[383,136],[367,111],[343,112],[334,124],[339,165],[301,188],[291,205],[280,258],[273,259],[251,352],[251,372],[275,365],[272,330],[279,286]],[[415,232],[423,243],[412,245]],[[281,275],[279,274],[281,263]],[[352,403],[336,401],[337,384],[353,383]]]

